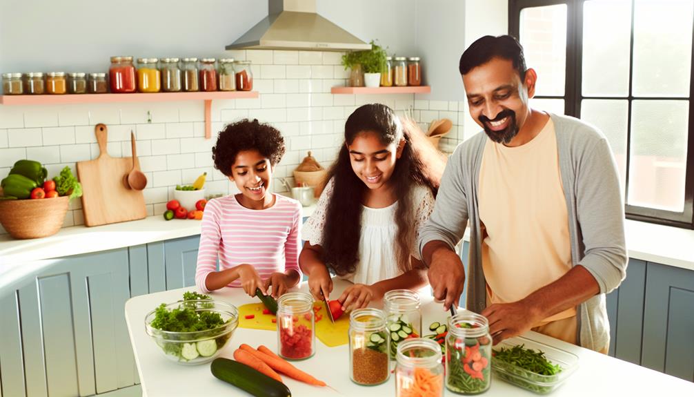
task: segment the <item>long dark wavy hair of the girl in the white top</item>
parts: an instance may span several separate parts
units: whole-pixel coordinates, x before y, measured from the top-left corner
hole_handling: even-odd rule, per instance
[[[394,219],[398,233],[394,248],[398,269],[403,272],[412,269],[409,261],[410,247],[414,244],[412,187],[428,187],[435,195],[445,165],[443,155],[426,139],[416,123],[398,119],[386,105],[363,105],[348,117],[345,142],[326,177],[327,180],[333,179],[334,189],[323,229],[323,261],[340,276],[353,273],[359,261],[362,203],[369,188],[354,173],[347,145],[352,144],[357,135],[364,132],[375,133],[384,145],[398,144],[405,139],[403,153],[396,160],[395,169],[388,181],[398,198]]]

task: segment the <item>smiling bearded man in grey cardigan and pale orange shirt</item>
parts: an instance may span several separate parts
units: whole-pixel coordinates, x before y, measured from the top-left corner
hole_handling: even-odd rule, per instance
[[[485,36],[460,58],[470,114],[486,134],[448,160],[419,237],[434,297],[457,303],[465,274],[453,247],[470,221],[467,308],[494,343],[536,330],[609,348],[605,295],[625,277],[624,209],[605,137],[530,108],[537,74],[513,37]]]

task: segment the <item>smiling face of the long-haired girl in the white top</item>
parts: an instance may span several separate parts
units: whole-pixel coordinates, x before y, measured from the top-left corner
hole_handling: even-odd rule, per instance
[[[352,170],[372,190],[387,188],[404,147],[405,140],[384,145],[377,133],[371,131],[359,133],[352,144],[347,145]]]

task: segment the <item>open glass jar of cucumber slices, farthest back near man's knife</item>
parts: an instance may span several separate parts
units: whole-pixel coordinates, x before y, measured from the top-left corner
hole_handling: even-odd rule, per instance
[[[409,289],[393,289],[383,296],[383,310],[386,312],[390,332],[390,358],[395,360],[396,349],[401,341],[422,335],[419,296]]]

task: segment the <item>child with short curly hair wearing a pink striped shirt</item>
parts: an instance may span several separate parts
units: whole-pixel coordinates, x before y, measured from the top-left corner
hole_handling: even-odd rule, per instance
[[[273,169],[284,154],[280,131],[257,120],[229,124],[219,133],[214,167],[240,193],[205,206],[195,273],[202,292],[242,287],[254,296],[260,288],[277,297],[301,280],[301,204],[270,192]]]

